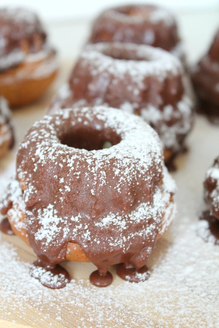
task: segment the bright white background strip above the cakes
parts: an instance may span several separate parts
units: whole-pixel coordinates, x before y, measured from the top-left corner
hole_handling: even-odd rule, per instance
[[[0,0],[1,6],[25,6],[37,11],[42,18],[49,21],[66,19],[92,18],[94,15],[110,6],[127,3],[146,3],[146,0]],[[151,0],[174,11],[199,11],[219,8],[219,0]]]

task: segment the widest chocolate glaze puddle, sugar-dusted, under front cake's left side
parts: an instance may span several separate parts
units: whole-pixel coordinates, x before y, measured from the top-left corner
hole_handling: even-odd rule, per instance
[[[70,275],[60,265],[55,265],[55,267],[50,267],[41,260],[36,260],[33,262],[30,269],[31,277],[38,279],[42,285],[52,288],[60,289],[70,282]]]

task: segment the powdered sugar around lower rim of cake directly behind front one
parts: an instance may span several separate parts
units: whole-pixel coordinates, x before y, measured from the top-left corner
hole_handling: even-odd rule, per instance
[[[57,97],[54,98],[49,113],[54,113],[60,105],[65,102],[68,103],[69,101],[71,103],[71,99],[74,98],[73,94],[74,92],[71,91],[69,84],[63,85],[58,92]],[[73,104],[73,107],[83,105],[87,105],[86,99],[76,101]],[[108,106],[107,103],[104,103],[103,105]],[[137,103],[125,101],[119,108],[127,113],[135,113],[138,106],[139,104]],[[182,146],[177,136],[187,135],[191,130],[193,122],[192,107],[193,102],[191,98],[184,94],[182,100],[177,102],[175,106],[166,105],[162,110],[152,104],[148,104],[141,108],[140,116],[144,121],[152,125],[159,134],[163,148],[172,149],[173,152],[178,152]],[[174,121],[174,124],[171,123],[172,121]]]

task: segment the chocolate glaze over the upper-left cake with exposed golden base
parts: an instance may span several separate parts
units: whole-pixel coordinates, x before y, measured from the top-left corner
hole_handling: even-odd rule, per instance
[[[6,40],[0,48],[0,72],[20,64],[25,55],[42,49],[46,33],[38,17],[23,8],[0,9],[0,30]],[[11,55],[11,60],[1,61]]]

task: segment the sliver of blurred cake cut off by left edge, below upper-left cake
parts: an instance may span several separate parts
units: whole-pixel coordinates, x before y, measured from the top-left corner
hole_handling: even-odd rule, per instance
[[[14,145],[14,133],[11,125],[11,112],[7,101],[0,96],[0,157]]]

